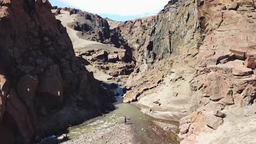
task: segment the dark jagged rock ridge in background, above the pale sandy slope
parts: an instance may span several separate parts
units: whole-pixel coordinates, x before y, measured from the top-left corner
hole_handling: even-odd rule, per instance
[[[79,31],[77,33],[79,38],[125,49],[129,56],[129,59],[127,60],[129,60],[129,62],[131,61],[130,47],[127,45],[124,38],[121,37],[118,28],[110,29],[107,19],[103,19],[99,15],[87,13],[79,9],[63,8],[62,10],[68,11],[70,15],[76,15],[75,21],[67,23],[67,26],[75,31]]]

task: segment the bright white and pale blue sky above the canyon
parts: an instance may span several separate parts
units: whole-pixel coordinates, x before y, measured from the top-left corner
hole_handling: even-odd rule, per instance
[[[51,5],[71,7],[108,17],[116,21],[126,21],[138,17],[156,15],[170,0],[49,0]]]

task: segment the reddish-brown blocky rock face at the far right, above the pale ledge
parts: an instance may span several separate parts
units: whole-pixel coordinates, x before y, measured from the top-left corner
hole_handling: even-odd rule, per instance
[[[255,74],[248,64],[245,65],[246,58],[256,55],[256,21],[251,16],[255,14],[253,1],[200,3],[203,3],[199,7],[200,18],[207,25],[197,56],[197,72],[191,82],[197,95],[193,100],[201,103],[195,105],[218,105],[220,109],[225,109],[229,105],[253,104]],[[236,7],[230,8],[230,5]],[[251,87],[249,93],[243,93],[246,85]]]

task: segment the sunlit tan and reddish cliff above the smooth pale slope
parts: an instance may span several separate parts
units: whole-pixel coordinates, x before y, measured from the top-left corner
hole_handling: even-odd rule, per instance
[[[223,94],[213,94],[218,98],[211,98],[215,96],[210,94],[212,91],[220,92],[220,88],[223,88],[215,87],[218,86],[220,75],[225,75],[223,79],[229,81],[247,80],[246,83],[254,83],[255,67],[248,64],[255,59],[254,13],[253,1],[170,1],[156,17],[119,25],[123,30],[122,36],[127,39],[137,60],[137,69],[131,77],[141,77],[147,73],[145,71],[154,67],[151,65],[155,62],[171,59],[173,67],[166,69],[177,69],[183,65],[196,70],[191,89],[198,95],[195,88],[199,88],[204,98],[210,97],[213,101],[223,98],[220,96]],[[131,32],[128,31],[129,28]],[[134,39],[138,37],[142,39]],[[209,82],[209,85],[206,85],[207,80],[202,79],[208,77],[208,74],[218,75],[213,79],[216,84],[210,85]],[[129,87],[135,85],[134,82],[127,84]],[[233,84],[232,86],[238,86]],[[224,93],[229,93],[229,87],[226,86]],[[135,95],[138,97],[140,94],[139,92]]]

